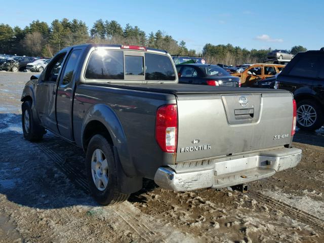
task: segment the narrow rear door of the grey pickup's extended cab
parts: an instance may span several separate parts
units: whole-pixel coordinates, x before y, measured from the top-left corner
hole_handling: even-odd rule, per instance
[[[68,139],[73,140],[72,131],[72,106],[75,69],[82,53],[81,49],[73,49],[67,57],[66,64],[59,78],[56,96],[56,119],[60,134]]]

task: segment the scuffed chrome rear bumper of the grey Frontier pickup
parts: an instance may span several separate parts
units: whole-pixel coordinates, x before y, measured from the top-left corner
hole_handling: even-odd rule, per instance
[[[301,160],[302,150],[282,148],[260,152],[258,155],[225,161],[215,161],[208,170],[176,173],[170,167],[160,167],[154,181],[162,188],[190,191],[202,188],[224,188],[248,183],[293,168]]]

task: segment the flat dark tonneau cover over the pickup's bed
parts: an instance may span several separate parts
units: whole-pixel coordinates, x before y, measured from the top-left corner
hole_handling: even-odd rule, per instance
[[[232,94],[232,93],[278,93],[288,92],[286,90],[260,89],[260,88],[234,88],[214,87],[208,85],[187,85],[187,84],[102,84],[91,83],[87,85],[104,86],[118,89],[139,90],[164,94]]]

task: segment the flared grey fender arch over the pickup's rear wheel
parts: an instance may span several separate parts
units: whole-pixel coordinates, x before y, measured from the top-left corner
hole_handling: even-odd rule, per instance
[[[108,130],[112,139],[113,145],[116,147],[119,155],[119,161],[125,174],[129,177],[137,175],[134,163],[131,159],[131,155],[128,149],[127,138],[124,133],[124,129],[115,114],[115,112],[104,104],[96,104],[92,106],[88,113],[85,115],[82,125],[82,138],[84,132],[90,121],[100,121]],[[82,139],[82,146],[84,147],[84,141]]]

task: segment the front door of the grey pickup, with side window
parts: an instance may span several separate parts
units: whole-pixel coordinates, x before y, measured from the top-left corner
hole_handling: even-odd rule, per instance
[[[53,58],[46,72],[38,80],[36,89],[36,110],[42,125],[54,133],[58,133],[55,115],[56,81],[66,56],[61,53]]]

